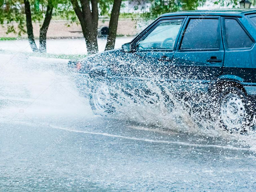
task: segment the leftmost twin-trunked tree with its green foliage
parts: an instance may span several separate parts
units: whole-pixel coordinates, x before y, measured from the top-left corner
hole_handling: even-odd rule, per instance
[[[60,3],[63,6],[58,6]],[[46,33],[52,15],[61,19],[69,17],[72,12],[69,0],[0,0],[0,24],[7,26],[7,34],[14,33],[21,36],[27,32],[33,51],[46,52]],[[32,22],[40,22],[39,49],[34,42]],[[18,24],[18,28],[15,28],[15,23]]]

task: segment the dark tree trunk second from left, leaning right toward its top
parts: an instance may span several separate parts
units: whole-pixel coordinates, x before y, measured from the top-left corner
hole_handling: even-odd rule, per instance
[[[39,44],[40,44],[40,52],[46,53],[46,34],[52,19],[52,2],[51,0],[48,1],[47,10],[44,18],[44,22],[42,27],[40,28],[40,36],[39,36]]]

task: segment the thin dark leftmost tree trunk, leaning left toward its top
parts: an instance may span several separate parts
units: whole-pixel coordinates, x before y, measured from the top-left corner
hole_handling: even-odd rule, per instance
[[[24,5],[25,5],[25,13],[26,13],[26,26],[27,26],[28,41],[29,41],[32,51],[37,52],[38,48],[36,47],[36,42],[35,42],[34,33],[33,33],[33,25],[32,25],[29,1],[24,0]]]

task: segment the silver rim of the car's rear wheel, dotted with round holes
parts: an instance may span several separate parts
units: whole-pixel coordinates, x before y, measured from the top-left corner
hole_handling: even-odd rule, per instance
[[[241,128],[246,116],[243,100],[237,94],[227,94],[221,102],[220,115],[228,129]]]

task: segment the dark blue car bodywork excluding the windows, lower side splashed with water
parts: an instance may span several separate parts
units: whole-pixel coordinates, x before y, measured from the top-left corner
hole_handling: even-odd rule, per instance
[[[256,95],[256,25],[250,21],[256,10],[200,10],[163,14],[131,41],[131,52],[122,49],[102,52],[82,60],[80,73],[90,73],[95,66],[106,68],[106,76],[130,88],[141,87],[144,80],[158,78],[163,84],[179,82],[182,89],[187,85],[207,91],[220,81],[236,82],[248,95]],[[182,34],[190,18],[218,18],[221,44],[218,50],[180,50]],[[226,44],[224,18],[234,18],[253,40],[250,48],[229,49]],[[136,51],[136,43],[163,20],[183,19],[173,50]],[[161,57],[166,60],[159,60]],[[207,62],[209,58],[221,62]],[[99,68],[98,68],[99,69]],[[103,69],[102,69],[103,70]],[[177,75],[179,74],[179,75]],[[138,88],[137,87],[137,88]]]

